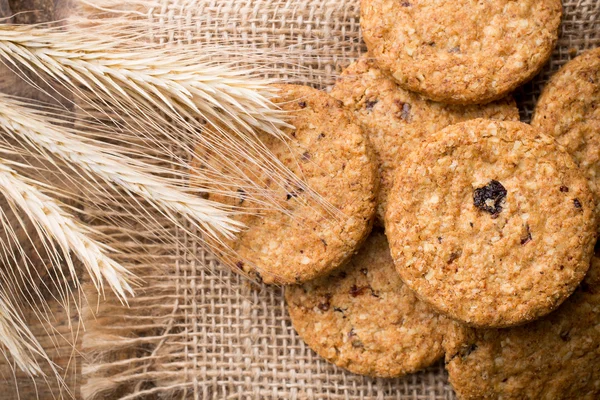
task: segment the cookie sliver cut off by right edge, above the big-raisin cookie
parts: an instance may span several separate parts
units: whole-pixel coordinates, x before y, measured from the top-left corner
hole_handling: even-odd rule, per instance
[[[554,136],[573,156],[600,208],[600,48],[570,61],[552,77],[531,124]]]

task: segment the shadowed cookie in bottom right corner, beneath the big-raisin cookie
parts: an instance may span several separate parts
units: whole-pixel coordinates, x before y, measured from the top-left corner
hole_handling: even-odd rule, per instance
[[[474,330],[446,353],[461,399],[600,398],[600,255],[550,315],[516,328]]]

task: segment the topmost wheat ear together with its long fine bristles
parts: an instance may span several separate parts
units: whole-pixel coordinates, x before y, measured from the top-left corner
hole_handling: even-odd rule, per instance
[[[17,73],[26,68],[58,81],[115,125],[131,122],[129,131],[174,159],[165,139],[179,148],[246,155],[275,185],[306,187],[307,196],[324,203],[257,140],[257,131],[284,140],[282,128],[288,125],[272,103],[278,90],[270,80],[259,78],[258,70],[236,68],[230,59],[211,59],[214,52],[218,60],[218,52],[234,48],[165,48],[134,40],[137,33],[114,36],[121,26],[110,20],[66,31],[0,25],[0,61]],[[233,169],[229,158],[223,157]],[[252,177],[244,179],[262,190]],[[266,198],[280,206],[268,194]]]

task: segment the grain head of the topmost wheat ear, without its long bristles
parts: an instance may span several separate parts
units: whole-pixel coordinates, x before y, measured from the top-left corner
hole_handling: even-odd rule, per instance
[[[17,68],[15,61],[34,73],[45,72],[76,92],[81,85],[106,100],[145,104],[180,122],[201,117],[234,132],[259,129],[281,136],[279,128],[286,124],[270,100],[277,91],[253,71],[217,64],[197,49],[168,50],[139,42],[135,49],[135,42],[111,36],[108,22],[84,31],[0,25],[0,55]]]

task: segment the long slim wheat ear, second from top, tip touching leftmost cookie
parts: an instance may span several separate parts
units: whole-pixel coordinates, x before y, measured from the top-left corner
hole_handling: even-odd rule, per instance
[[[24,140],[42,153],[47,151],[77,165],[105,182],[118,185],[160,209],[177,223],[183,215],[202,232],[219,240],[231,238],[242,226],[231,219],[231,210],[189,194],[166,179],[149,174],[148,165],[115,152],[102,143],[86,141],[70,129],[49,124],[42,115],[0,94],[0,127],[15,140]]]

